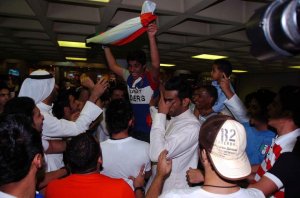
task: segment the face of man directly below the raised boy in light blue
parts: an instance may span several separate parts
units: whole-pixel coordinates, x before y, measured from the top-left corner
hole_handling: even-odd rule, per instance
[[[203,88],[194,91],[193,101],[197,109],[209,109],[213,106],[213,97],[211,97],[206,89]]]

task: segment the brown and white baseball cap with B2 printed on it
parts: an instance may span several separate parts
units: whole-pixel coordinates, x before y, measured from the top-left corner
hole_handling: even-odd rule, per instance
[[[215,115],[208,118],[201,127],[199,144],[221,177],[236,180],[251,173],[245,152],[245,128],[232,117]]]

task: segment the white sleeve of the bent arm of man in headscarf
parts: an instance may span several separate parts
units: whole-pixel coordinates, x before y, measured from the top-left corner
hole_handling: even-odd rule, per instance
[[[87,101],[84,105],[80,116],[75,122],[65,119],[57,119],[50,114],[44,114],[43,136],[46,137],[69,137],[76,136],[85,132],[92,121],[94,121],[100,114],[100,109],[94,103]]]

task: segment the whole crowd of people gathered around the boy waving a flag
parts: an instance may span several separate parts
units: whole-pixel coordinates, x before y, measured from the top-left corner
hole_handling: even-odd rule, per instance
[[[32,72],[18,96],[0,84],[0,197],[297,197],[300,87],[259,89],[244,102],[232,65],[212,65],[211,85],[159,79],[157,26],[146,54],[128,54],[122,80],[80,78],[59,88]]]

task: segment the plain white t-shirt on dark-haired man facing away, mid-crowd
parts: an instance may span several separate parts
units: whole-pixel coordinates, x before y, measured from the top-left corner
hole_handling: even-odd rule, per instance
[[[132,189],[133,182],[129,176],[138,176],[145,164],[145,171],[150,171],[149,143],[127,137],[120,140],[108,139],[101,142],[103,171],[102,174],[112,178],[124,179]]]

